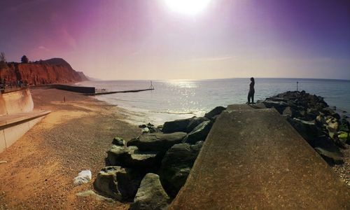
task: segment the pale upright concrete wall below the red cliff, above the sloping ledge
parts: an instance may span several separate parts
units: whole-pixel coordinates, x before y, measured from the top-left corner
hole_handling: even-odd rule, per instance
[[[34,102],[29,89],[0,94],[0,116],[33,111]]]

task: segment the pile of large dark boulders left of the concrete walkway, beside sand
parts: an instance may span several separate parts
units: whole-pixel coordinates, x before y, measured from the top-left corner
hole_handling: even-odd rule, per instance
[[[140,125],[142,134],[130,141],[114,138],[106,167],[94,187],[108,197],[132,202],[131,209],[166,209],[185,184],[211,126],[225,108],[204,117]]]

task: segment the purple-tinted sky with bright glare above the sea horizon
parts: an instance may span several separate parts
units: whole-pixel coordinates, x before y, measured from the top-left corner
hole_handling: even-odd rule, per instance
[[[169,1],[1,0],[0,51],[104,80],[350,79],[348,0]]]

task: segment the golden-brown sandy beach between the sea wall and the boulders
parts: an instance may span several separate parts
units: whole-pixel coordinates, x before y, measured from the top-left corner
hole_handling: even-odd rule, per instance
[[[113,137],[137,137],[139,127],[123,121],[123,109],[92,97],[55,89],[31,94],[36,109],[52,113],[0,153],[6,161],[0,164],[0,209],[128,209],[76,193],[93,190]],[[73,185],[84,169],[91,170],[92,181]]]

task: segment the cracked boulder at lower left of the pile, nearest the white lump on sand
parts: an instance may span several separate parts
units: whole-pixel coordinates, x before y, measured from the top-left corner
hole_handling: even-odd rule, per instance
[[[104,195],[120,201],[130,201],[136,195],[141,179],[141,174],[136,170],[105,167],[97,174],[94,187]]]

